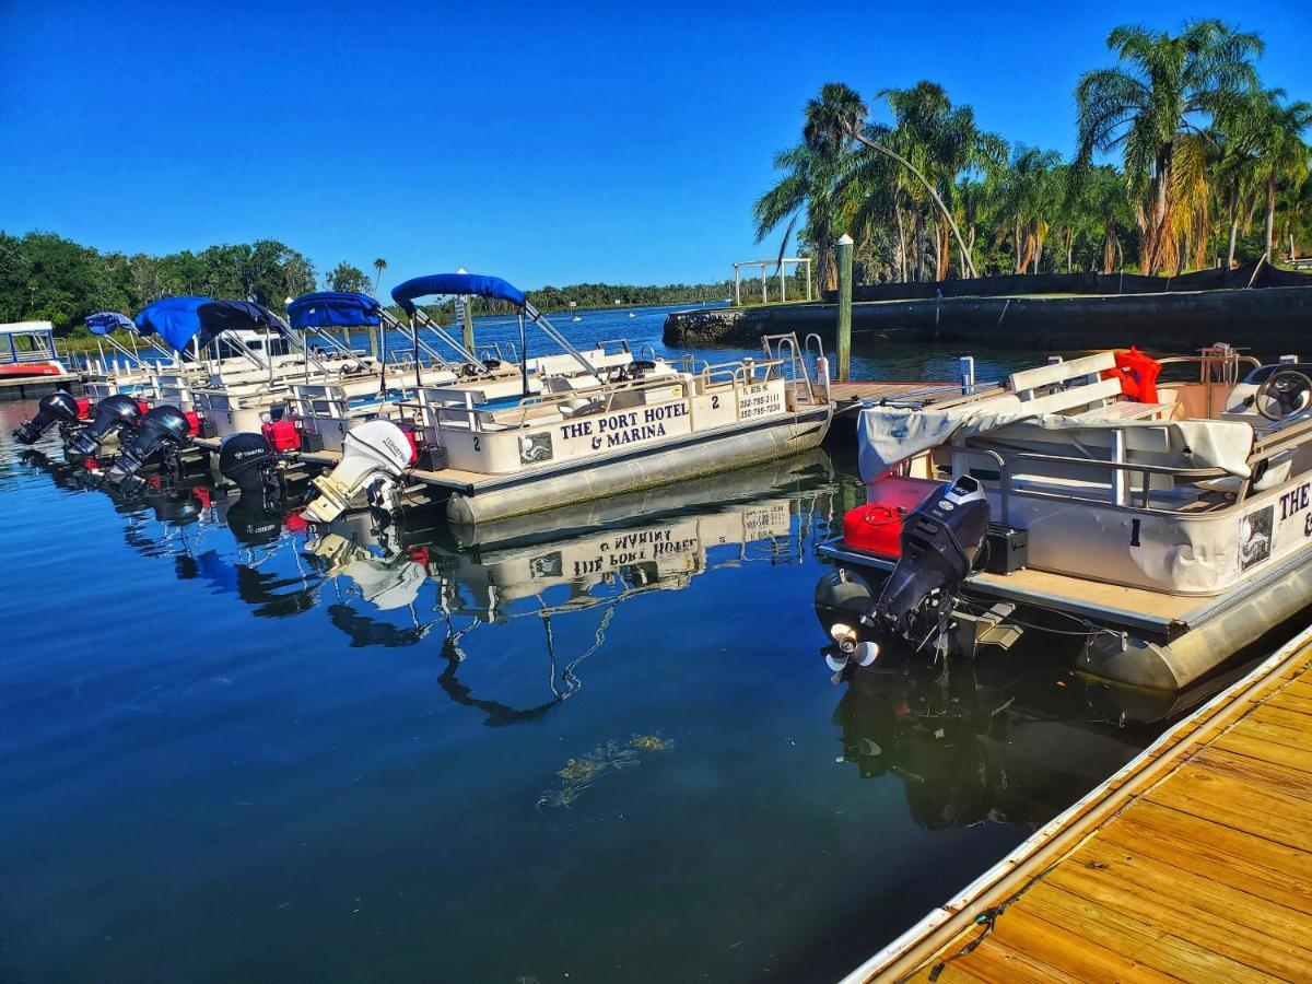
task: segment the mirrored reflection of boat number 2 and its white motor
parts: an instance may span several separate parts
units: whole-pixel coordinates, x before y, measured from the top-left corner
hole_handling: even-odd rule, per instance
[[[318,527],[307,554],[335,584],[332,623],[352,646],[413,646],[442,626],[438,685],[491,726],[534,720],[583,687],[580,668],[606,642],[615,609],[655,590],[686,588],[718,567],[798,563],[816,516],[830,513],[833,468],[815,451],[680,485],[517,520],[450,527],[434,512],[392,525],[353,513]],[[794,529],[794,516],[799,517]],[[710,555],[712,547],[731,551]],[[420,610],[432,579],[436,598]],[[592,642],[556,648],[562,618],[592,611]],[[398,625],[387,615],[404,613]],[[525,707],[476,695],[457,674],[464,642],[483,626],[538,619],[547,661],[543,699]]]

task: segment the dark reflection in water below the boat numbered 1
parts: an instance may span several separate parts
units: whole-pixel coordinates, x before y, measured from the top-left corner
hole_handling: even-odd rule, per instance
[[[838,761],[862,779],[900,779],[925,829],[981,821],[1036,828],[1248,669],[1178,694],[1128,689],[1069,669],[1051,642],[1046,651],[1027,640],[1029,652],[937,665],[882,655],[846,677],[833,715]]]

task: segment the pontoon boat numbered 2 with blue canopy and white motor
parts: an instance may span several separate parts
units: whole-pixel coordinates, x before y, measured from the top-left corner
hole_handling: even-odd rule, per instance
[[[760,359],[673,365],[626,353],[627,361],[606,367],[499,277],[419,277],[392,299],[416,332],[432,319],[415,302],[442,294],[514,307],[520,399],[478,404],[466,388],[463,401],[400,401],[399,417],[349,430],[333,472],[315,479],[311,521],[365,505],[399,508],[417,484],[445,499],[450,520],[487,522],[789,457],[819,446],[829,429],[828,363],[816,336],[806,352],[795,335],[768,336]],[[527,386],[530,324],[572,363],[541,374],[537,392]]]

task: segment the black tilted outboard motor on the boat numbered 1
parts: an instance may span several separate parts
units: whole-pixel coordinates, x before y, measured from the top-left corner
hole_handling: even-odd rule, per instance
[[[988,499],[979,480],[968,475],[928,496],[903,520],[897,567],[861,615],[861,625],[887,642],[901,640],[916,649],[942,636],[962,583],[984,546],[988,523]],[[854,626],[837,623],[829,634],[842,653],[829,660],[836,672],[853,663],[869,666],[879,655],[879,643],[861,642]]]

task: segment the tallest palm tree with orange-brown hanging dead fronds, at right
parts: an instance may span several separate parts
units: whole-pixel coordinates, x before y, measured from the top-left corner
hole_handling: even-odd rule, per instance
[[[1178,269],[1172,210],[1173,165],[1185,139],[1198,139],[1200,118],[1218,117],[1257,85],[1257,34],[1218,20],[1193,21],[1179,34],[1120,26],[1107,35],[1120,66],[1085,72],[1076,85],[1077,164],[1094,151],[1119,150],[1126,178],[1143,199],[1143,269]]]

